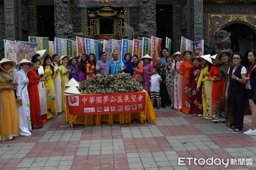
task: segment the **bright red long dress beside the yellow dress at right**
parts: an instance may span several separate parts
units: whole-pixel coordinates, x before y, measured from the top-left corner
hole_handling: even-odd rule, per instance
[[[209,77],[213,78],[214,76],[219,78],[219,65],[213,65]],[[225,118],[224,112],[221,111],[221,103],[223,102],[223,89],[224,89],[225,79],[222,77],[221,82],[213,82],[212,84],[212,120],[218,120],[219,118]],[[205,119],[208,119],[209,116],[206,116]]]

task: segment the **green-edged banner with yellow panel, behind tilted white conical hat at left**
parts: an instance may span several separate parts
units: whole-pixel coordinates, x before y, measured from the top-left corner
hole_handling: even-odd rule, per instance
[[[29,42],[37,43],[37,50],[46,50],[44,56],[49,54],[49,38],[48,37],[29,37]]]

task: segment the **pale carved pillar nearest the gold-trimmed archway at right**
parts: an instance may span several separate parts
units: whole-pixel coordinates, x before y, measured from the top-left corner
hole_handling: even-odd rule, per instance
[[[203,23],[203,0],[192,0],[192,18],[191,18],[191,40],[203,40],[204,23]]]

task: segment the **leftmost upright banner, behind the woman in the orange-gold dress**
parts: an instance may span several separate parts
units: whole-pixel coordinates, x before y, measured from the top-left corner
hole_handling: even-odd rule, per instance
[[[16,41],[4,40],[4,57],[18,63]]]

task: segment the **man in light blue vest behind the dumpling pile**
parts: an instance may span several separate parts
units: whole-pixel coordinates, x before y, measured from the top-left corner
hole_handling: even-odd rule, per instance
[[[112,58],[113,60],[109,62],[110,74],[116,75],[122,73],[125,69],[123,68],[124,63],[120,59],[118,59],[117,52],[112,53]]]

